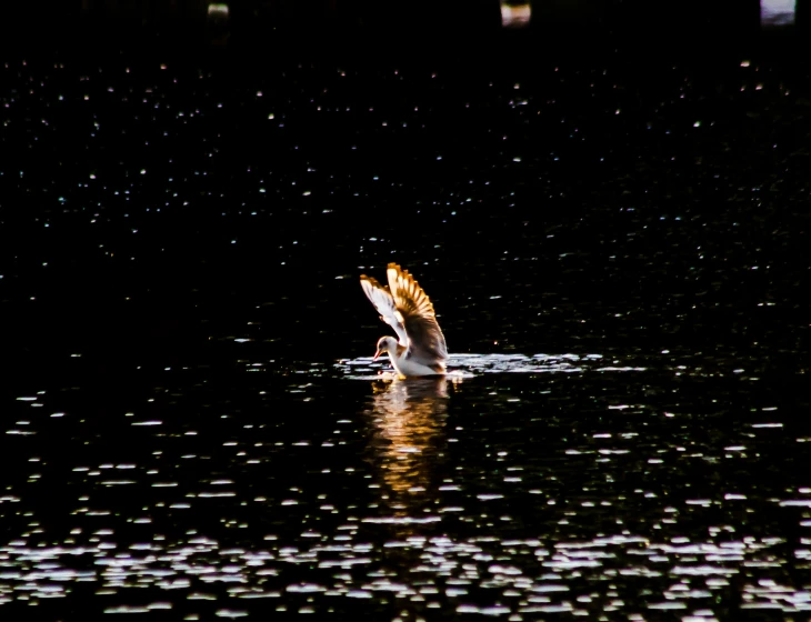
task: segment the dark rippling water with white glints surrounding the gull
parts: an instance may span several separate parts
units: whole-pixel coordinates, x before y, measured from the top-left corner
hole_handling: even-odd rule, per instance
[[[628,60],[8,61],[3,619],[807,615],[808,74]]]

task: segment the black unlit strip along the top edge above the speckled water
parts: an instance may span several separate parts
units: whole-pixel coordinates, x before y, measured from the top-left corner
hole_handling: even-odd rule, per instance
[[[224,3],[229,7],[228,23],[209,19],[208,4],[203,0],[9,2],[2,9],[0,33],[3,46],[10,49],[140,42],[189,51],[189,46],[222,44],[228,39],[230,47],[261,49],[283,41],[333,52],[336,46],[364,48],[374,42],[387,52],[417,56],[427,44],[449,41],[490,48],[498,44],[491,38],[501,29],[498,0],[233,0]],[[807,0],[797,2],[795,27],[788,30],[808,32],[808,4]],[[660,51],[707,50],[751,42],[761,30],[758,0],[537,0],[531,6],[530,29],[523,38],[537,44],[567,43],[581,50],[601,42],[631,41]],[[223,39],[226,32],[229,37]],[[471,51],[458,49],[453,53]]]

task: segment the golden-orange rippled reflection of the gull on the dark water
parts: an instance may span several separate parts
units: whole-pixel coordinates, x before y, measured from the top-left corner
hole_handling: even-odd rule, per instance
[[[445,378],[396,379],[372,384],[372,460],[382,478],[383,501],[394,516],[424,518],[435,492],[448,411]]]

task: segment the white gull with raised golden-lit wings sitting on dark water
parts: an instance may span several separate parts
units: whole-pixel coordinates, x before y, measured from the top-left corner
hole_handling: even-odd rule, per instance
[[[394,329],[393,337],[381,337],[374,360],[388,352],[391,364],[401,378],[445,373],[448,349],[437,323],[433,304],[408,270],[390,263],[386,270],[388,285],[374,278],[360,275],[360,284],[372,301],[380,319]]]

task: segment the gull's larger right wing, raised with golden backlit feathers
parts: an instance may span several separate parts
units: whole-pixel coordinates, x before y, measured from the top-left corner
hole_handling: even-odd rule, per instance
[[[386,272],[394,309],[402,319],[408,337],[408,357],[425,365],[444,362],[448,359],[448,348],[437,323],[431,300],[408,270],[390,263]]]

